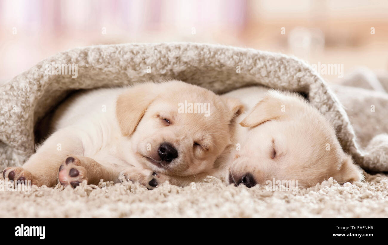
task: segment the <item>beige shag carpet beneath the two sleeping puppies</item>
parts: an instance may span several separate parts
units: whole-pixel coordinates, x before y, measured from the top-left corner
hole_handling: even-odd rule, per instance
[[[0,192],[0,199],[0,217],[388,217],[388,177],[367,174],[366,182],[343,186],[329,179],[298,192],[226,186],[216,178],[152,191],[132,182],[83,183]]]

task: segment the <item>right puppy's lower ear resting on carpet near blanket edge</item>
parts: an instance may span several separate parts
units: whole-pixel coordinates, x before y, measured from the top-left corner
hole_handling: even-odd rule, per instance
[[[334,179],[338,183],[353,183],[355,181],[361,181],[364,179],[362,170],[359,166],[353,163],[352,157],[347,155],[346,158],[341,162],[340,171],[334,176]]]

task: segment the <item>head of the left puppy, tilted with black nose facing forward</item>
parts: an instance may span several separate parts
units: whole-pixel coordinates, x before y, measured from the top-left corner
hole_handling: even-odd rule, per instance
[[[117,100],[116,116],[137,160],[170,176],[208,173],[230,144],[238,100],[181,81],[144,83]]]

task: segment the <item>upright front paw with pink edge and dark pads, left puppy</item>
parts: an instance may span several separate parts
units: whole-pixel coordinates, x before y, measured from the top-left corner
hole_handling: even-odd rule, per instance
[[[75,155],[68,155],[59,167],[59,183],[76,188],[83,180],[88,180],[86,173],[85,167],[80,166],[80,160]]]

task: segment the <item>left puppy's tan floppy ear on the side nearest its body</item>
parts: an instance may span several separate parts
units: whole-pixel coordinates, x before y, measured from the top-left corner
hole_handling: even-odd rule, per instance
[[[158,84],[142,83],[122,93],[116,101],[116,117],[124,136],[135,131],[149,104],[156,97]]]

